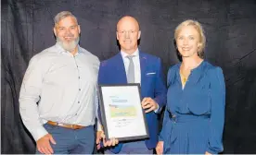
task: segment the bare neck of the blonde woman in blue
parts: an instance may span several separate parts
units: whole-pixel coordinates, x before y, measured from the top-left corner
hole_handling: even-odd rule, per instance
[[[182,58],[182,66],[185,70],[191,70],[195,67],[197,67],[203,59],[200,57],[183,57]]]

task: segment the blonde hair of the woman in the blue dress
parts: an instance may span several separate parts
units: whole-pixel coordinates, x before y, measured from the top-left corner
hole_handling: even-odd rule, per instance
[[[205,48],[205,42],[206,42],[206,39],[205,39],[205,35],[204,35],[204,30],[202,29],[202,26],[201,24],[197,21],[197,20],[192,20],[192,19],[188,19],[188,20],[185,20],[183,21],[182,23],[180,23],[175,31],[174,31],[174,39],[175,39],[175,42],[177,41],[177,37],[178,37],[178,34],[179,32],[182,30],[183,27],[185,26],[193,26],[197,31],[198,31],[198,34],[199,34],[199,47],[198,47],[198,56],[200,58],[203,58],[204,57],[204,48]]]

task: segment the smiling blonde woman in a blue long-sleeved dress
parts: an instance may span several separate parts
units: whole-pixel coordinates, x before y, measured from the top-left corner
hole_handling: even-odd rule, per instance
[[[182,63],[168,71],[167,105],[158,154],[216,154],[223,151],[223,71],[203,59],[205,36],[195,20],[174,32]]]

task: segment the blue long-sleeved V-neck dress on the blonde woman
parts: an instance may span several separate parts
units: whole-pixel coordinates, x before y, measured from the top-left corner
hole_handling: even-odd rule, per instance
[[[223,151],[225,86],[223,71],[203,61],[191,70],[184,89],[180,64],[168,71],[167,105],[160,141],[164,154]]]

